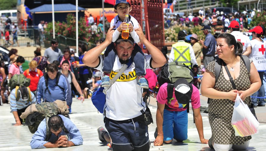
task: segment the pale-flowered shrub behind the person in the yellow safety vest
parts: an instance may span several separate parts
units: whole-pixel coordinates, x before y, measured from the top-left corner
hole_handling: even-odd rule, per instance
[[[200,39],[205,39],[205,35],[203,33],[203,30],[201,30],[203,27],[198,25],[192,27],[187,27],[187,26],[180,26],[180,25],[173,25],[168,29],[164,30],[164,36],[165,36],[165,42],[177,42],[177,36],[178,32],[180,30],[186,30],[188,35],[190,34],[197,34],[198,35],[198,40]],[[212,34],[214,34],[214,29],[212,28]]]

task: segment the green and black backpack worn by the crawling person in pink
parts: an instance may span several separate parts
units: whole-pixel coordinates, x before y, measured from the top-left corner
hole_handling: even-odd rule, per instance
[[[177,79],[184,78],[189,83],[190,91],[192,92],[192,81],[194,78],[194,71],[190,69],[187,65],[179,65],[178,62],[170,62],[165,64],[161,71],[158,74],[158,83],[159,86],[163,85],[164,83],[167,84],[167,106],[165,109],[171,109],[169,107],[169,102],[173,98],[173,88],[174,83]],[[187,113],[189,113],[189,102],[185,106],[187,108]]]

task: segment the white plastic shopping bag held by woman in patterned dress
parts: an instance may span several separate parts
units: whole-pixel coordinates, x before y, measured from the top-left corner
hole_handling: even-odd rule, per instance
[[[234,105],[231,125],[235,130],[236,136],[250,136],[259,132],[259,122],[238,94]]]

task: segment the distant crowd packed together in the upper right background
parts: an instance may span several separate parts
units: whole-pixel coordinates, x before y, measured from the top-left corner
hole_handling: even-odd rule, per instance
[[[213,28],[215,26],[223,26],[223,31],[226,32],[226,30],[229,29],[229,23],[233,20],[236,20],[240,25],[240,30],[251,29],[251,21],[255,15],[256,10],[253,9],[251,12],[248,12],[247,10],[243,12],[235,12],[235,13],[229,13],[226,14],[224,12],[216,11],[215,9],[213,12],[210,8],[207,9],[207,11],[204,13],[203,9],[200,9],[198,14],[192,14],[188,13],[184,16],[177,15],[169,15],[167,13],[164,13],[164,25],[165,28],[169,28],[173,25],[181,25],[181,26],[197,26],[197,25],[210,25]]]

